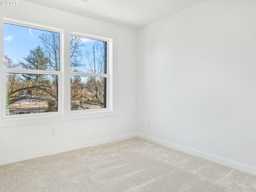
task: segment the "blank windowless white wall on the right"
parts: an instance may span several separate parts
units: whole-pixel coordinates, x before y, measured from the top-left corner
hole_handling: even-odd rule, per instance
[[[208,0],[138,30],[142,138],[256,174],[255,10]]]

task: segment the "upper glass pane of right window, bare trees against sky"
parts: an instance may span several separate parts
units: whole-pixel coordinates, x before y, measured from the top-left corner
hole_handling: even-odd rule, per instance
[[[70,36],[70,70],[106,74],[106,43],[100,40]]]

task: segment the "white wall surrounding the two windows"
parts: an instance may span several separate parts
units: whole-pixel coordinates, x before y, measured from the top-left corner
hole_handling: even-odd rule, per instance
[[[115,116],[0,127],[0,164],[134,137],[136,80],[131,76],[136,76],[136,30],[22,0],[19,0],[18,6],[0,6],[0,17],[46,24],[62,28],[64,32],[72,30],[111,34],[116,36],[114,44],[118,47],[114,53]],[[56,136],[51,135],[51,128],[57,128]]]

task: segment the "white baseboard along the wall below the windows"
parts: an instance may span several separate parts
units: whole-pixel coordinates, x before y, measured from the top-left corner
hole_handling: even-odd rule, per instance
[[[91,141],[91,142],[85,142],[85,143],[76,144],[76,145],[72,145],[72,146],[65,146],[62,148],[56,148],[56,149],[51,149],[51,150],[46,150],[46,151],[24,154],[21,156],[4,158],[4,159],[0,159],[0,165],[24,161],[24,160],[38,158],[38,157],[42,157],[42,156],[48,156],[48,155],[62,153],[62,152],[71,151],[71,150],[76,150],[76,149],[80,149],[80,148],[86,148],[86,147],[90,147],[90,146],[120,141],[120,140],[124,140],[124,139],[130,139],[130,138],[134,138],[136,136],[137,136],[137,134],[130,134],[130,135],[113,137],[113,138],[106,138],[106,139],[102,139],[102,140],[95,140],[95,141]]]

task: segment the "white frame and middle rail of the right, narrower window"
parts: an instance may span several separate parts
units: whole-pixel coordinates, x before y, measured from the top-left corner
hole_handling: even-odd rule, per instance
[[[96,36],[96,35],[91,35],[91,34],[80,33],[80,32],[74,32],[74,31],[71,31],[70,35],[107,42],[107,73],[106,74],[85,73],[85,72],[70,72],[70,76],[86,76],[86,77],[104,77],[104,78],[106,78],[106,87],[107,87],[107,89],[106,89],[106,108],[93,109],[93,110],[73,110],[73,111],[71,111],[71,113],[76,114],[76,113],[90,113],[90,112],[113,110],[112,109],[112,106],[113,106],[113,104],[112,104],[113,85],[112,85],[112,78],[111,78],[112,77],[112,71],[113,71],[112,70],[113,39],[112,38],[101,37],[101,36]]]

